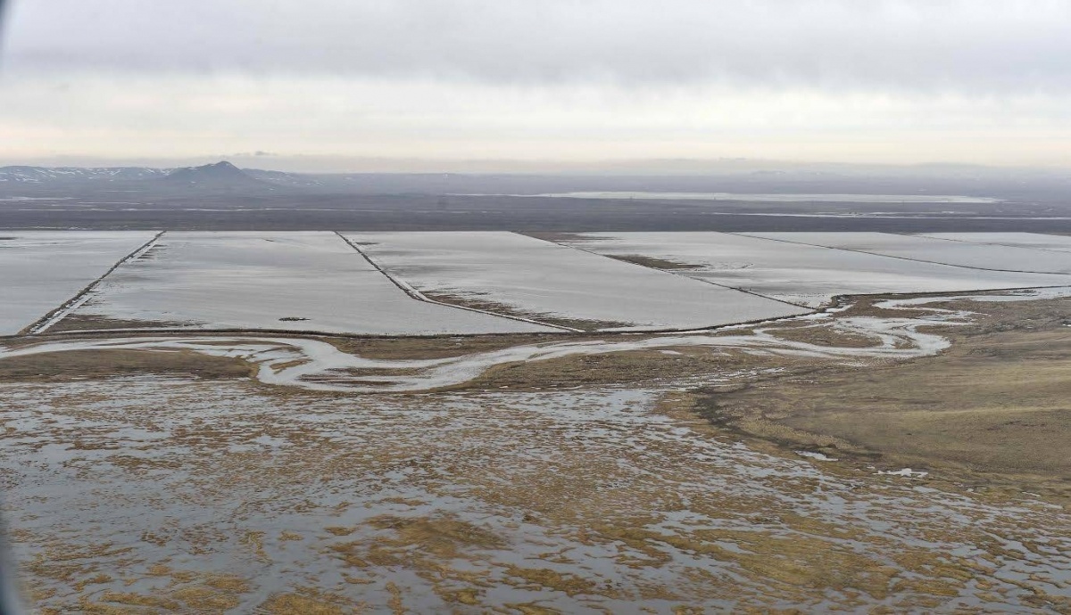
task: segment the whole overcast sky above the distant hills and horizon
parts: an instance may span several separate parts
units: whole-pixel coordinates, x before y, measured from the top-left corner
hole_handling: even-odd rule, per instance
[[[0,164],[1071,168],[1071,0],[13,0],[4,21]]]

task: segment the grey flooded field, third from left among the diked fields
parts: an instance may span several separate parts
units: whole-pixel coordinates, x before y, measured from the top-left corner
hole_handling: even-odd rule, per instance
[[[527,314],[691,328],[805,309],[508,232],[346,233],[421,292]]]

